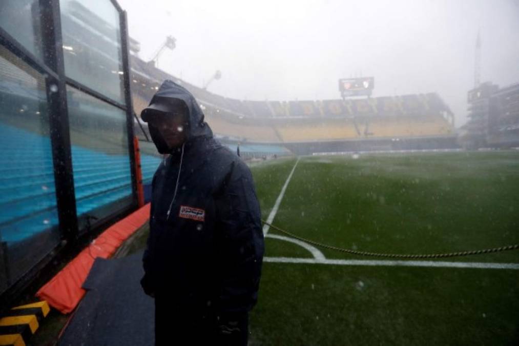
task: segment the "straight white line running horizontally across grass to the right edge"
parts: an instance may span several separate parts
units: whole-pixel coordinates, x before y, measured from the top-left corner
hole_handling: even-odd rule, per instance
[[[307,263],[360,265],[372,267],[429,267],[429,268],[477,268],[477,269],[514,269],[519,270],[519,263],[482,263],[482,262],[444,262],[444,261],[392,261],[392,260],[340,260],[315,258],[264,257],[264,262],[271,263]]]

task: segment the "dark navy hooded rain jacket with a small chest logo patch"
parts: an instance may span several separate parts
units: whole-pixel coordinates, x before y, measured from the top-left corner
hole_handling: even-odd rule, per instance
[[[213,139],[195,98],[166,81],[152,99],[182,100],[187,140],[153,177],[141,281],[192,309],[244,313],[257,300],[264,238],[251,172]],[[155,139],[154,139],[155,140]]]

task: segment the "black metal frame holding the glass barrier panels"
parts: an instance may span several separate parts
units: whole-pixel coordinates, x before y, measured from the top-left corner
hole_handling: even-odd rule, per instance
[[[44,61],[36,57],[32,52],[23,47],[9,33],[1,28],[0,25],[0,45],[6,47],[12,54],[30,65],[39,73],[46,77],[47,102],[49,109],[49,127],[52,147],[52,162],[54,167],[54,183],[56,184],[56,198],[59,216],[59,227],[62,238],[67,239],[69,244],[74,244],[79,234],[78,218],[76,214],[76,199],[74,190],[74,176],[72,170],[71,137],[69,127],[69,115],[67,107],[66,85],[70,85],[86,94],[117,107],[126,113],[128,154],[130,157],[130,174],[132,185],[132,203],[120,210],[111,213],[103,220],[97,220],[90,224],[92,228],[113,220],[115,217],[134,209],[137,205],[136,175],[135,175],[135,156],[133,145],[133,108],[130,92],[130,68],[128,50],[128,26],[126,11],[122,10],[115,0],[110,0],[119,14],[119,32],[121,35],[122,48],[122,70],[124,72],[124,99],[125,104],[121,104],[111,98],[102,95],[100,92],[65,76],[64,56],[62,44],[62,28],[60,18],[59,0],[39,0],[40,10],[39,23],[42,31],[42,45]],[[33,14],[34,15],[34,14]],[[2,280],[8,274],[5,272],[4,251],[0,250],[0,278]],[[36,265],[36,263],[35,263]],[[7,273],[7,274],[6,274]],[[11,283],[13,284],[13,283]],[[0,294],[2,292],[0,291]],[[1,295],[0,295],[1,296]],[[0,302],[3,299],[0,299]]]

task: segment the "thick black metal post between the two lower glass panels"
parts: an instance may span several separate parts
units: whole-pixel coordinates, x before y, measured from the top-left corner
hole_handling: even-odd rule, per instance
[[[58,74],[46,78],[54,184],[62,236],[74,241],[78,233],[74,173],[67,110],[65,66],[59,0],[39,0],[42,14],[44,62]]]

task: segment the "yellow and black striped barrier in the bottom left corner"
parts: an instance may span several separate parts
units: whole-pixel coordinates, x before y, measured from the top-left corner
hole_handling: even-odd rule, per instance
[[[24,346],[36,332],[39,323],[49,314],[46,301],[12,308],[0,318],[0,346]]]

